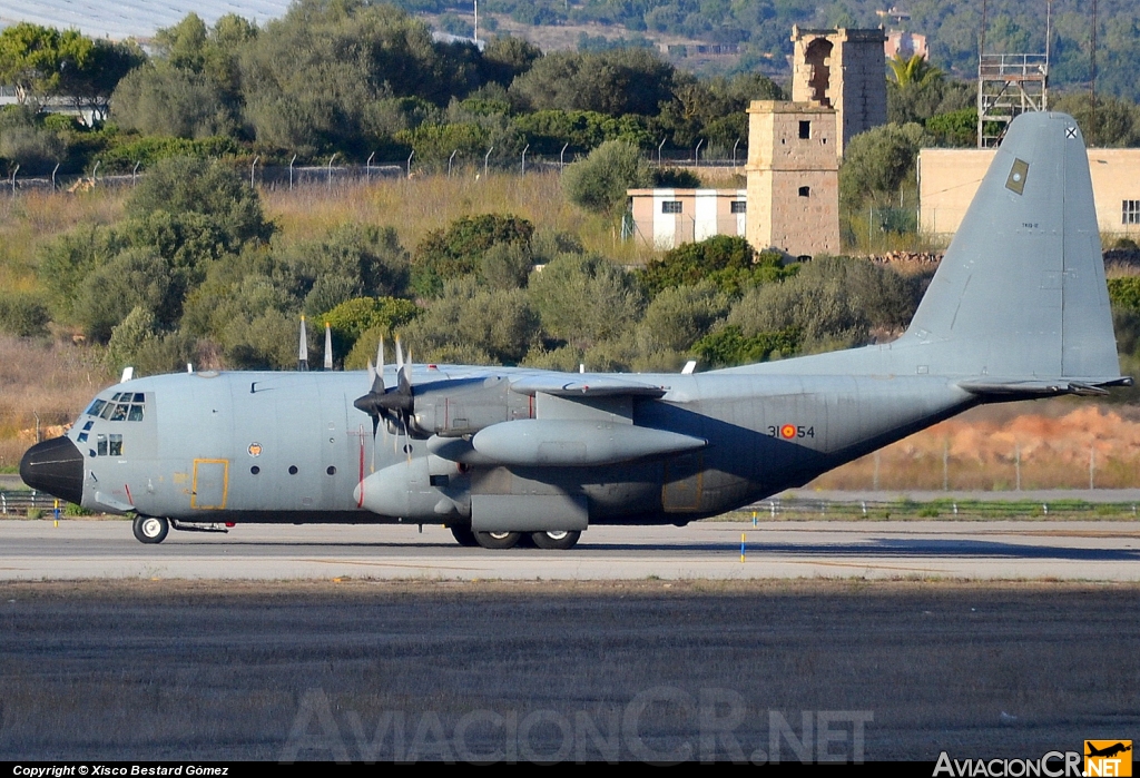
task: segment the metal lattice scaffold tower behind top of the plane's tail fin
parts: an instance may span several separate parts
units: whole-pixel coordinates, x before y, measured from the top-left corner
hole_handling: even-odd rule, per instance
[[[1015,116],[1048,109],[1048,54],[980,55],[978,148],[996,148]]]

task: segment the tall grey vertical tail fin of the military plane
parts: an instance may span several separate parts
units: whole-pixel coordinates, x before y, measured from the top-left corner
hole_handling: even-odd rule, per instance
[[[903,344],[925,346],[936,375],[1119,377],[1088,153],[1070,116],[1012,122]]]

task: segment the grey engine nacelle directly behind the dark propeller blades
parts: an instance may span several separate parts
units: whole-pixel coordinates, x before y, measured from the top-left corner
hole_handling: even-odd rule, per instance
[[[505,376],[420,384],[412,426],[421,435],[459,437],[492,424],[530,418],[531,402],[530,396],[512,392]]]

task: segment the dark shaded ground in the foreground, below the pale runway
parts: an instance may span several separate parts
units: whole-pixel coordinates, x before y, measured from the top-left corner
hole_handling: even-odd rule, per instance
[[[0,760],[1035,759],[1138,732],[1138,593],[5,584]]]

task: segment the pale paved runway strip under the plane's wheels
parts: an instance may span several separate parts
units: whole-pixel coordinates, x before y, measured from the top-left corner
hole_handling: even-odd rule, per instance
[[[742,551],[743,540],[743,556]],[[0,580],[1140,581],[1140,525],[1088,522],[751,522],[595,526],[571,551],[461,548],[441,526],[239,525],[171,531],[124,521],[0,522]]]

